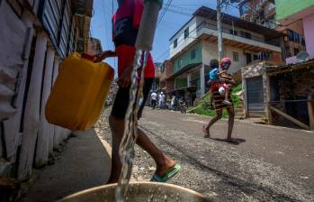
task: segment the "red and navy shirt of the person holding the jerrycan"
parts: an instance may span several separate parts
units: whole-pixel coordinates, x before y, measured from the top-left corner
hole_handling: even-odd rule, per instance
[[[143,0],[124,0],[112,16],[112,38],[118,55],[118,75],[133,63],[135,42],[139,32],[140,19],[144,11]],[[144,71],[145,78],[155,78],[154,61],[150,53]]]

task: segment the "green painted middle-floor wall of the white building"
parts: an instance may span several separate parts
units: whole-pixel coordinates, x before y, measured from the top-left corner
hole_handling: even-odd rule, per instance
[[[195,50],[195,58],[192,59],[192,51]],[[184,68],[186,65],[202,62],[202,45],[197,43],[179,58],[174,60],[174,72]]]

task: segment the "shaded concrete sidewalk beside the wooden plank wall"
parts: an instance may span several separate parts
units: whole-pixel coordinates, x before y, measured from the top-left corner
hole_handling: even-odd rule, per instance
[[[68,140],[60,159],[40,170],[39,179],[20,201],[55,201],[106,183],[111,170],[108,144],[94,130],[75,134],[76,137]]]

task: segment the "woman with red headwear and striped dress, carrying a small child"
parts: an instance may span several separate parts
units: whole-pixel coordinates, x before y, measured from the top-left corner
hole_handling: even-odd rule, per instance
[[[229,84],[229,97],[228,100],[231,103],[231,105],[224,103],[225,95],[220,94],[220,87],[211,87],[211,94],[213,95],[213,102],[215,104],[216,109],[216,116],[211,119],[211,122],[205,127],[203,126],[203,132],[205,133],[205,138],[211,138],[210,129],[213,124],[218,122],[222,117],[222,110],[224,108],[227,109],[229,114],[229,122],[228,122],[228,135],[227,135],[227,142],[232,142],[232,131],[234,126],[234,120],[235,120],[235,112],[234,112],[234,106],[232,103],[232,99],[230,96],[230,93],[232,91],[232,86],[235,84],[231,75],[227,73],[227,70],[229,70],[229,67],[231,65],[231,60],[229,58],[224,58],[220,61],[220,68],[224,71],[223,74],[220,75],[220,80],[224,83]]]

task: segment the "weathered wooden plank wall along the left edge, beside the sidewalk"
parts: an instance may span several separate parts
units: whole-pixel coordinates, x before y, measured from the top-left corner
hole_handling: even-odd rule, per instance
[[[28,2],[30,6],[0,0],[0,117],[10,105],[15,110],[13,115],[4,116],[5,120],[0,118],[0,177],[21,180],[29,179],[33,167],[45,165],[49,152],[58,149],[69,134],[48,124],[40,114],[60,62],[55,55],[58,47],[51,45],[49,33],[40,21],[35,21],[41,1]],[[14,96],[10,97],[12,92]]]

